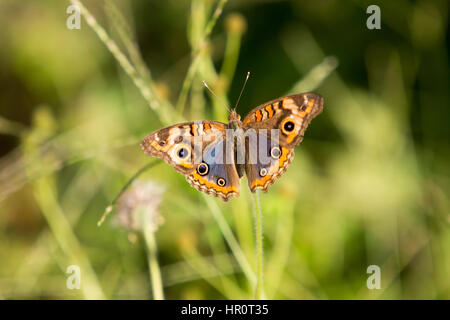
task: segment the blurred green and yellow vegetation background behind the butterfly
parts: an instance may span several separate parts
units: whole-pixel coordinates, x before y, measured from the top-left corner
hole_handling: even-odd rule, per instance
[[[448,1],[83,3],[141,90],[84,18],[66,28],[69,1],[0,1],[0,298],[153,298],[144,237],[117,210],[96,223],[151,161],[140,140],[181,118],[225,121],[201,80],[233,105],[249,70],[241,115],[291,92],[325,99],[261,194],[267,297],[450,298]],[[381,30],[366,27],[371,4]],[[245,178],[229,203],[166,164],[140,179],[165,188],[148,194],[165,297],[252,298]],[[66,288],[73,264],[80,290]]]

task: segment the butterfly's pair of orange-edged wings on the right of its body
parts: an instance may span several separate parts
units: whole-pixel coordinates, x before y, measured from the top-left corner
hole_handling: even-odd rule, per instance
[[[294,158],[294,147],[302,141],[309,123],[322,109],[321,96],[295,94],[260,105],[244,118],[244,130],[253,129],[258,137],[257,144],[246,145],[247,155],[258,154],[257,161],[247,161],[245,165],[252,192],[267,191],[287,170]]]

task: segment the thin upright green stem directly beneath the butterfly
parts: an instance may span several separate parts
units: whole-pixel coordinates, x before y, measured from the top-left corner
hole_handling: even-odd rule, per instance
[[[265,297],[263,288],[263,226],[261,202],[259,199],[259,191],[255,192],[255,236],[256,236],[256,292],[255,299],[261,300]]]

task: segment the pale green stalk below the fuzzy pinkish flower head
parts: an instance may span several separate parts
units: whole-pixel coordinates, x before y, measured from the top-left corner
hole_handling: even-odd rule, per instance
[[[143,234],[145,245],[147,247],[147,262],[150,273],[150,282],[152,285],[152,293],[154,300],[164,300],[164,291],[161,278],[161,269],[159,268],[157,258],[157,246],[155,239],[155,232],[150,228],[149,217],[145,210],[141,210],[141,221],[143,226]]]

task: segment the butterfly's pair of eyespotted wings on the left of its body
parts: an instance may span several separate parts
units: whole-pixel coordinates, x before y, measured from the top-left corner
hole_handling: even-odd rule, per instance
[[[239,195],[239,176],[226,158],[227,126],[215,121],[177,124],[158,130],[141,143],[150,156],[163,159],[197,190],[228,201]]]

